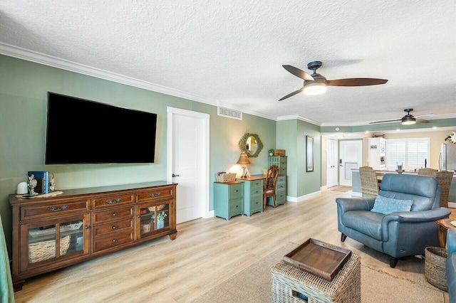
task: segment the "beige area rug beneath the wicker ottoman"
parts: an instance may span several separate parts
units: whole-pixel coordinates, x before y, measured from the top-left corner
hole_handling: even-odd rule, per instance
[[[271,302],[271,267],[296,246],[287,243],[202,294],[194,302]],[[361,302],[437,303],[444,302],[444,293],[432,285],[423,287],[410,280],[366,267],[361,260]]]

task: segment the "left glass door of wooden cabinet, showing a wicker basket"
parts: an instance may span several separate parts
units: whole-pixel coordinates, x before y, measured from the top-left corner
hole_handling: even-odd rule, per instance
[[[26,235],[26,267],[56,258],[67,258],[88,253],[88,218],[83,215],[52,220],[52,223],[25,224],[21,226]]]

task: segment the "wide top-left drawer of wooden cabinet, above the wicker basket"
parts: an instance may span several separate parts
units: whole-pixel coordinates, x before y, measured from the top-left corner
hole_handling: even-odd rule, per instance
[[[46,218],[53,216],[69,215],[89,211],[88,199],[58,201],[55,203],[43,203],[42,205],[21,206],[21,220],[34,218]]]

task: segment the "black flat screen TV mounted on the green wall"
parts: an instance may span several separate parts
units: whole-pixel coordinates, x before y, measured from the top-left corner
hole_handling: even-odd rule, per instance
[[[48,92],[46,164],[153,163],[157,114]]]

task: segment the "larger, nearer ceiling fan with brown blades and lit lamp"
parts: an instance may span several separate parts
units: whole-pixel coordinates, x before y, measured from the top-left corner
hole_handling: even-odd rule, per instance
[[[379,85],[385,84],[388,80],[385,79],[375,79],[375,78],[347,78],[347,79],[338,79],[338,80],[326,80],[325,77],[316,73],[318,68],[321,68],[321,61],[312,61],[307,64],[309,70],[314,70],[312,75],[306,73],[304,70],[295,68],[291,65],[282,65],[290,73],[304,80],[304,86],[299,90],[291,92],[291,94],[286,95],[281,98],[279,101],[289,98],[296,95],[299,92],[304,90],[306,95],[318,95],[326,92],[326,86],[366,86],[366,85]]]

